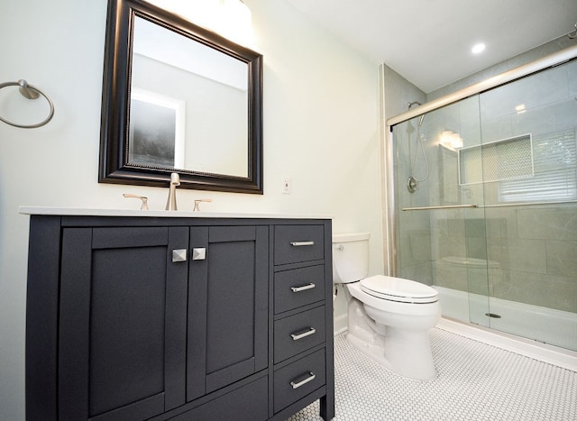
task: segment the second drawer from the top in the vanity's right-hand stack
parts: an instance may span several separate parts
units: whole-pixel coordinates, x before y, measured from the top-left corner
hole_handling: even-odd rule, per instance
[[[274,274],[275,314],[325,299],[325,266],[310,266]]]

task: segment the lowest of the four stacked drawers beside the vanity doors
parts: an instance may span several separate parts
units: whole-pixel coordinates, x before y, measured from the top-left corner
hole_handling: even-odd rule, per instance
[[[325,385],[325,350],[274,372],[274,412]]]

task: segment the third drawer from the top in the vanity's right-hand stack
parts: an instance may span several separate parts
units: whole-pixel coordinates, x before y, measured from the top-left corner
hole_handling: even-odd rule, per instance
[[[274,362],[325,343],[325,306],[274,322]]]

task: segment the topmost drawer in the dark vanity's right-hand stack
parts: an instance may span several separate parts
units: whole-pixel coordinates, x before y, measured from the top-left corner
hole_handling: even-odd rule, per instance
[[[274,264],[325,258],[324,225],[279,225],[274,230]]]

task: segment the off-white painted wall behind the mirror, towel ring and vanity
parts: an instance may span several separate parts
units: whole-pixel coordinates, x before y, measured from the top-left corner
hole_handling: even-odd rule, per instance
[[[179,207],[334,216],[334,232],[371,232],[383,269],[378,67],[285,0],[246,0],[264,56],[263,196],[179,190]],[[0,83],[27,79],[53,100],[50,124],[0,122],[0,419],[24,416],[28,217],[18,206],[163,208],[168,188],[97,183],[105,0],[3,0]],[[7,88],[6,88],[7,89]],[[14,113],[26,104],[14,103]],[[292,194],[280,193],[281,176]]]

